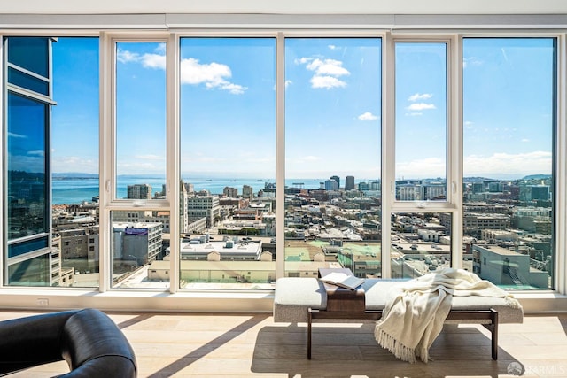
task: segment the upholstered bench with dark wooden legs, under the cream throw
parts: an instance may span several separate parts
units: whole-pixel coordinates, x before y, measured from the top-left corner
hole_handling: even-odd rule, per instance
[[[316,278],[284,277],[276,282],[274,321],[307,323],[307,359],[311,359],[313,320],[377,320],[382,316],[386,293],[399,280],[367,279],[361,286],[364,306],[340,308],[329,306],[329,296],[324,284]],[[355,305],[356,306],[356,305]],[[508,305],[501,297],[453,297],[447,323],[482,324],[490,330],[492,358],[498,359],[498,325],[522,323],[523,309]]]

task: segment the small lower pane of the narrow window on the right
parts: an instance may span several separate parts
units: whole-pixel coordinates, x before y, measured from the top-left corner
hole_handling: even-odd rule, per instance
[[[449,212],[392,214],[392,278],[416,278],[451,267]],[[465,254],[463,268],[472,272]]]

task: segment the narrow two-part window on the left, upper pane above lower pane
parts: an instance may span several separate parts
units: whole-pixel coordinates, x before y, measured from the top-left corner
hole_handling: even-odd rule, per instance
[[[168,289],[167,40],[113,38],[112,287]],[[155,203],[155,204],[154,204]],[[103,248],[105,250],[105,248]],[[167,264],[167,263],[166,263]],[[166,271],[169,271],[167,266]]]

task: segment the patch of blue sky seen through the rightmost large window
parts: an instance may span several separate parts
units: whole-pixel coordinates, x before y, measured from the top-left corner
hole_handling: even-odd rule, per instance
[[[553,40],[464,41],[464,174],[551,174]]]

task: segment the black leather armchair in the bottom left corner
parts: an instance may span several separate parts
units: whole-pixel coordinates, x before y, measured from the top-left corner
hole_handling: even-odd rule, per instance
[[[51,312],[0,322],[0,375],[65,359],[65,378],[136,377],[128,339],[105,312]]]

